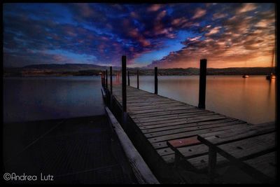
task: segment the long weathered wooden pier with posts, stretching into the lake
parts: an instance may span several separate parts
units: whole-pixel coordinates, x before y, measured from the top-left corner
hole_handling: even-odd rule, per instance
[[[206,62],[202,60],[202,63]],[[137,89],[139,88],[139,79],[137,79],[137,88],[126,85],[125,81],[123,86],[113,85],[111,88],[110,85],[110,90],[113,90],[112,95],[107,89],[108,86],[104,86],[108,95],[107,105],[160,182],[209,183],[208,158],[210,158],[211,153],[207,145],[197,139],[200,134],[227,132],[227,130],[232,132],[242,128],[248,130],[248,136],[242,137],[243,139],[268,134],[271,139],[268,141],[269,146],[267,147],[269,148],[267,150],[262,149],[258,152],[258,144],[256,144],[252,145],[256,147],[252,155],[249,153],[244,155],[247,159],[261,157],[267,153],[275,155],[276,147],[275,144],[272,144],[275,140],[275,133],[272,133],[275,131],[275,123],[252,125],[243,120],[204,109],[206,64],[204,69],[205,71],[201,71],[204,81],[200,82],[204,85],[200,85],[199,106],[192,106],[157,95],[157,75],[155,75],[155,93]],[[157,71],[158,69],[155,69],[155,72]],[[123,76],[123,78],[125,77]],[[251,133],[250,128],[252,126],[259,128],[255,131],[252,130]],[[237,141],[240,139],[237,139]],[[226,143],[228,142],[226,141]],[[230,161],[221,159],[219,153],[214,158],[218,159],[215,162],[217,168],[232,164]],[[238,159],[242,160],[241,157]],[[178,162],[178,160],[181,162]],[[180,166],[178,167],[179,163]],[[274,163],[270,167],[272,170],[276,170]],[[275,172],[272,171],[272,173]],[[274,176],[271,177],[273,180]],[[255,181],[255,183],[258,182],[258,180]]]

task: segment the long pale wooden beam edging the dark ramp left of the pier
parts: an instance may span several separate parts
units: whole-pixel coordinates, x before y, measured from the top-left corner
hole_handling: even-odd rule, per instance
[[[113,113],[108,107],[105,107],[106,113],[109,116],[109,121],[118,135],[120,144],[123,146],[123,150],[127,155],[127,158],[132,166],[132,170],[139,183],[159,183],[158,179],[155,178],[151,169],[146,165],[141,155],[138,153],[137,149],[134,148],[132,142],[127,137],[127,134],[123,131],[123,128],[118,123],[118,120],[113,116]]]

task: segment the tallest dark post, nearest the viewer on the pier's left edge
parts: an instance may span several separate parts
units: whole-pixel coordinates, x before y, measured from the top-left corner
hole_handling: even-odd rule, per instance
[[[127,57],[122,56],[123,125],[127,121]]]

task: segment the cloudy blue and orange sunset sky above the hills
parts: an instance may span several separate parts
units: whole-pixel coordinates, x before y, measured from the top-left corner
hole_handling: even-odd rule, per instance
[[[271,67],[274,46],[274,4],[3,4],[4,67]]]

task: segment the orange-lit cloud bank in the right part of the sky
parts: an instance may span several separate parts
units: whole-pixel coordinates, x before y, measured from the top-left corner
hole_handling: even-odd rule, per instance
[[[203,36],[189,37],[182,42],[185,47],[181,50],[154,60],[148,67],[199,67],[202,58],[207,58],[208,67],[242,67],[245,62],[249,67],[269,67],[275,21],[273,13],[268,12],[255,17],[234,15],[223,20],[223,27],[207,25],[202,29]]]

